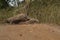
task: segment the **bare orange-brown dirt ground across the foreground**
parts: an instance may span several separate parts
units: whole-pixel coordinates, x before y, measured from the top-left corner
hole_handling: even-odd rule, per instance
[[[60,40],[60,28],[49,24],[0,25],[0,40]]]

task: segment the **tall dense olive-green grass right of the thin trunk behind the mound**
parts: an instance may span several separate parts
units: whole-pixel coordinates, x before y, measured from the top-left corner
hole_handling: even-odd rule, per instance
[[[60,0],[37,0],[30,6],[29,15],[40,23],[60,24]]]

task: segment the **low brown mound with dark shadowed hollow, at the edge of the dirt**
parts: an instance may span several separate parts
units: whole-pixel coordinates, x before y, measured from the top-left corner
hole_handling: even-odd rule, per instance
[[[30,23],[30,24],[32,24],[32,23],[38,23],[39,20],[34,19],[34,18],[30,18],[29,16],[27,16],[25,14],[18,14],[16,16],[8,18],[5,22],[9,23],[9,24],[19,24],[19,23]]]

